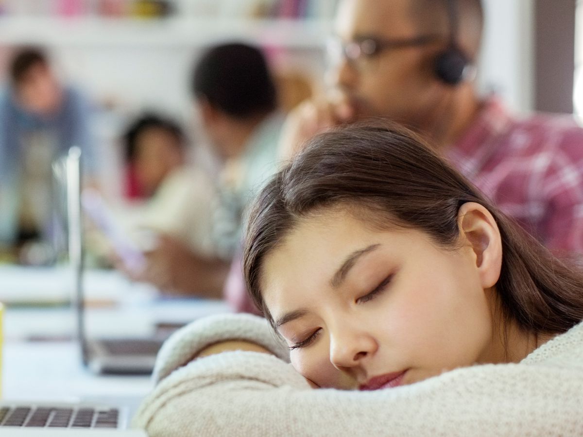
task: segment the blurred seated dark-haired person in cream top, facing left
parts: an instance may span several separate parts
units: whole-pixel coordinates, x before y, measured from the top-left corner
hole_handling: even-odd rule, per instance
[[[153,112],[143,114],[128,126],[123,142],[128,189],[139,196],[131,196],[135,202],[122,210],[120,219],[138,245],[147,245],[140,237],[149,240],[148,231],[153,231],[154,239],[181,241],[201,264],[226,265],[217,259],[212,238],[215,184],[196,163],[188,163],[187,138],[180,125]],[[160,286],[171,287],[164,273],[151,272]],[[199,287],[213,288],[212,281],[201,282],[201,275],[197,281]],[[221,286],[216,286],[219,292]]]

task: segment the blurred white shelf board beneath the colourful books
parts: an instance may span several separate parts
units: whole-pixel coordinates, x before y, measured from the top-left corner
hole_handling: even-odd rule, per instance
[[[0,17],[0,44],[196,47],[238,38],[275,47],[322,48],[331,27],[329,20],[315,19]]]

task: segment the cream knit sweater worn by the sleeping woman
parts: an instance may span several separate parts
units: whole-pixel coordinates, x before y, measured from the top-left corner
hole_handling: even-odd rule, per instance
[[[233,339],[276,356],[233,351],[191,361],[205,346]],[[212,316],[164,344],[154,378],[134,418],[150,437],[583,435],[583,324],[519,364],[357,392],[311,389],[264,319]]]

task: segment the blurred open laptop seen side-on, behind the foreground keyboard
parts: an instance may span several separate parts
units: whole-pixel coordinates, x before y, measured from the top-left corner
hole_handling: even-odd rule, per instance
[[[81,207],[81,151],[72,147],[60,164],[64,167],[69,262],[73,270],[77,337],[83,364],[101,374],[149,375],[156,355],[169,333],[155,338],[88,339],[85,333],[83,290],[83,213]],[[57,169],[58,170],[58,169]],[[57,171],[58,172],[58,171]]]

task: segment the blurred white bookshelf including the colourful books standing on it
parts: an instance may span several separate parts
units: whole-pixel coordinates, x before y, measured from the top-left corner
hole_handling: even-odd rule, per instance
[[[0,0],[0,44],[321,48],[336,0]]]

